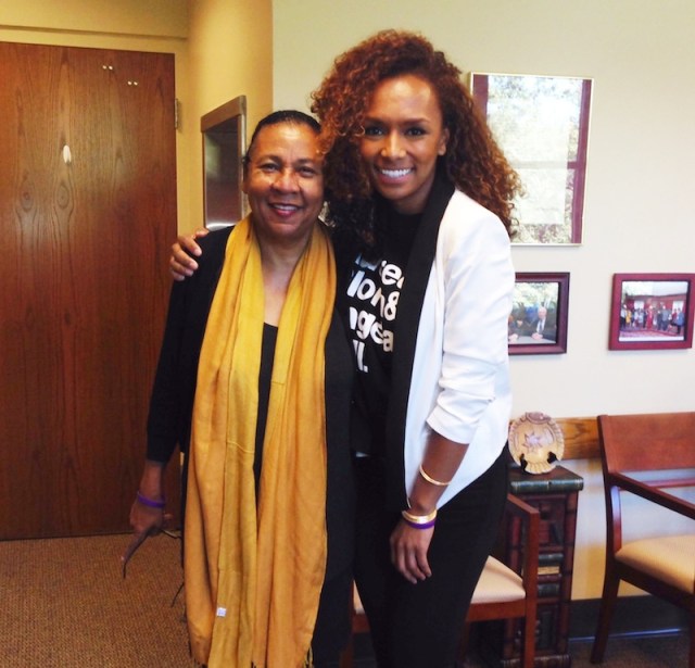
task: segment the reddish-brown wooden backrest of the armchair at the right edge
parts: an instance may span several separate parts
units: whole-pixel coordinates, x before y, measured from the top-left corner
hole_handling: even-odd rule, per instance
[[[604,470],[695,467],[695,413],[599,415]]]

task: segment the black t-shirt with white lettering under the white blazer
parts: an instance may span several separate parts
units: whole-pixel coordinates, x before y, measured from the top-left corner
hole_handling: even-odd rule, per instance
[[[382,454],[399,298],[420,219],[420,214],[390,212],[381,259],[357,257],[346,288],[349,336],[357,360],[353,448],[364,454]]]

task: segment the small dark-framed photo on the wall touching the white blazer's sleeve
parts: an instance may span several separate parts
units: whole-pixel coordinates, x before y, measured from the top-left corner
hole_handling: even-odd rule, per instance
[[[510,355],[567,352],[569,274],[517,274],[507,336]]]

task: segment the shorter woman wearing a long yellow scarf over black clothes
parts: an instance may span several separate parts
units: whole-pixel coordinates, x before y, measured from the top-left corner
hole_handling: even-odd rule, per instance
[[[172,292],[131,524],[160,526],[178,442],[189,637],[211,668],[338,666],[349,632],[353,365],[318,129],[294,111],[258,124],[251,214],[202,240],[200,270]]]

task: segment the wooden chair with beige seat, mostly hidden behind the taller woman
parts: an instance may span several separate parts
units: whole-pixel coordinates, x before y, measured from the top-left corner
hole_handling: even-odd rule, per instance
[[[532,668],[535,650],[535,617],[539,567],[539,511],[514,494],[507,495],[505,508],[508,555],[505,562],[489,557],[476,585],[463,630],[459,658],[464,658],[468,626],[475,621],[514,620],[525,618],[521,634],[522,668]],[[366,633],[369,623],[357,591],[354,592],[352,633]],[[345,651],[341,668],[352,668],[352,640]]]

